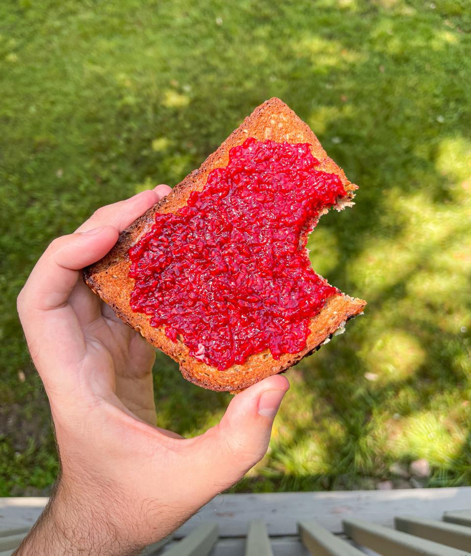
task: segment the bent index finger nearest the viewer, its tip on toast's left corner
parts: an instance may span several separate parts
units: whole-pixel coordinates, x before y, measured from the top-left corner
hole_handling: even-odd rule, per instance
[[[54,240],[37,262],[18,296],[18,313],[29,351],[49,398],[54,391],[77,388],[75,368],[86,354],[85,339],[77,315],[67,303],[77,284],[78,269],[91,264],[116,243],[118,231],[111,226]]]

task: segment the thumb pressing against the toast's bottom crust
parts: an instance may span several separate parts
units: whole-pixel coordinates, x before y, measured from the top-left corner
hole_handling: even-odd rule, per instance
[[[219,425],[202,437],[202,456],[211,454],[212,478],[223,488],[236,483],[266,453],[271,428],[290,385],[281,375],[260,381],[231,400]]]

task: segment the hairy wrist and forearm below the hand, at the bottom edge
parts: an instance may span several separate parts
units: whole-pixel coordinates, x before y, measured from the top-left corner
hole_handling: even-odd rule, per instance
[[[99,500],[77,500],[59,483],[14,556],[133,556],[142,549],[127,539],[126,531],[118,530]]]

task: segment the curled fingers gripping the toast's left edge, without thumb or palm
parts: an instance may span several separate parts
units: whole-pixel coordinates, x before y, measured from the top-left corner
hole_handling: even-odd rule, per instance
[[[168,191],[161,185],[103,207],[75,234],[54,240],[34,266],[18,296],[18,313],[48,394],[73,391],[81,384],[80,377],[63,370],[85,358],[83,324],[100,315],[97,298],[78,284],[80,269],[105,256],[119,232]]]

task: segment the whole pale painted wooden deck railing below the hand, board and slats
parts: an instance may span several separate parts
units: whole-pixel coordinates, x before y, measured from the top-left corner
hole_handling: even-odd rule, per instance
[[[13,553],[45,502],[0,499],[0,556]],[[471,556],[467,508],[470,487],[221,495],[142,554]]]

